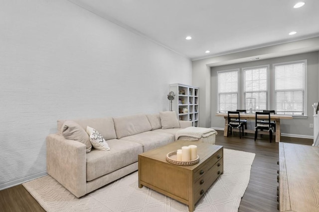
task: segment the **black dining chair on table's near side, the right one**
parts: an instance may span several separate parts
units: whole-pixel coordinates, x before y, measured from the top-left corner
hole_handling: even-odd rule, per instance
[[[266,117],[265,117],[266,115]],[[269,132],[269,140],[272,141],[273,138],[273,128],[270,124],[270,112],[256,112],[255,116],[255,141],[257,139],[258,129],[263,131],[267,130]]]

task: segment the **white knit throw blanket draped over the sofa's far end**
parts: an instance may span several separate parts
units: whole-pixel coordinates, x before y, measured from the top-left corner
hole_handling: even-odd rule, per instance
[[[204,128],[204,127],[194,127],[190,126],[181,130],[178,130],[176,132],[176,139],[179,137],[182,137],[185,139],[186,137],[189,137],[191,140],[198,140],[200,138],[208,137],[209,135],[217,134],[217,132],[212,128]]]

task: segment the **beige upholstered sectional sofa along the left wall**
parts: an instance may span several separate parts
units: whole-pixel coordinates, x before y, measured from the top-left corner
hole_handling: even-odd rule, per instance
[[[97,130],[110,148],[101,151],[66,139],[66,120],[58,120],[58,132],[47,136],[47,172],[78,198],[138,170],[140,153],[175,141],[178,130],[191,126],[177,120],[174,111],[71,121],[77,130]]]

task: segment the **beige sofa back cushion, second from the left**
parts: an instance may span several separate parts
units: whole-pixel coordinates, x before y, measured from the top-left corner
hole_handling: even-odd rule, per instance
[[[118,139],[152,130],[145,114],[114,117],[113,121]]]

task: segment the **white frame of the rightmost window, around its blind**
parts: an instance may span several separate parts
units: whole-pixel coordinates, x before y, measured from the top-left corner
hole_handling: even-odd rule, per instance
[[[304,72],[304,114],[303,115],[292,115],[294,117],[307,117],[308,116],[308,109],[307,109],[307,101],[308,101],[308,85],[307,85],[307,69],[308,69],[308,61],[305,60],[295,60],[295,61],[289,61],[289,62],[282,62],[282,63],[274,63],[273,64],[273,73],[272,73],[272,79],[273,79],[273,86],[272,86],[272,108],[275,108],[275,67],[279,65],[290,65],[290,64],[296,64],[296,63],[304,63],[305,72]]]

